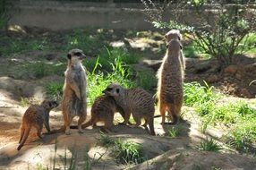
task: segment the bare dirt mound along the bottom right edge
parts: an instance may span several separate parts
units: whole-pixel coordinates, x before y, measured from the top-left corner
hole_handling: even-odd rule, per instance
[[[150,159],[141,165],[127,168],[143,169],[256,169],[256,161],[247,157],[232,154],[195,150],[169,150],[165,154]]]

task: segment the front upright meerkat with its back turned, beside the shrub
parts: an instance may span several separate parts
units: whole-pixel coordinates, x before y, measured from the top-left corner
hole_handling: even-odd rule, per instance
[[[167,45],[166,55],[158,70],[158,106],[162,123],[166,121],[166,111],[177,123],[183,105],[183,66],[181,61],[182,45],[172,39]]]

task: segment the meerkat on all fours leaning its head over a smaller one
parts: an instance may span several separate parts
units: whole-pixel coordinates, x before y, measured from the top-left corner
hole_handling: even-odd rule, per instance
[[[119,84],[111,83],[107,89],[103,91],[107,96],[115,98],[117,105],[124,110],[124,123],[129,122],[130,115],[135,121],[135,127],[141,125],[141,118],[145,120],[143,126],[147,129],[149,124],[149,132],[156,135],[154,130],[154,114],[155,106],[153,97],[144,89],[124,89]]]

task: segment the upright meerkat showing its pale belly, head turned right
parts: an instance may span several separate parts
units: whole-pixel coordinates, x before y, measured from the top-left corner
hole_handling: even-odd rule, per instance
[[[74,116],[79,116],[78,130],[81,129],[81,123],[86,119],[86,73],[81,64],[85,55],[80,49],[72,49],[68,52],[68,65],[64,72],[64,94],[62,100],[62,113],[64,116],[65,134],[70,134],[70,124]]]

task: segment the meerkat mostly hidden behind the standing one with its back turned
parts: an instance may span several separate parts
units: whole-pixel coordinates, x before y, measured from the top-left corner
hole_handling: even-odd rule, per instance
[[[172,39],[177,39],[181,41],[183,37],[179,30],[170,30],[166,33],[165,38],[166,38],[166,43],[168,44]],[[184,61],[183,50],[181,50],[180,58],[183,65],[183,72],[184,72],[186,68],[186,64]]]

